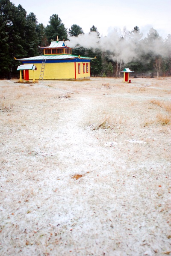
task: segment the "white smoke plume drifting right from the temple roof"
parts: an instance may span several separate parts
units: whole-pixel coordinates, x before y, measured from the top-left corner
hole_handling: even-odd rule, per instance
[[[142,33],[124,34],[121,31],[114,29],[109,32],[108,36],[99,38],[96,32],[80,34],[69,38],[65,43],[71,47],[77,48],[77,45],[87,49],[100,49],[103,52],[108,52],[108,57],[113,60],[123,60],[124,63],[131,62],[133,59],[139,60],[142,54],[151,52],[152,55],[166,56],[166,49],[161,37],[155,40],[141,39]]]

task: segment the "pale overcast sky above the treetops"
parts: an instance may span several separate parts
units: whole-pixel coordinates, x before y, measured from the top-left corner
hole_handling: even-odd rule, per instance
[[[94,25],[102,36],[117,27],[133,30],[138,26],[147,35],[150,27],[164,39],[171,33],[171,0],[11,0],[21,4],[27,14],[33,12],[38,23],[49,24],[50,16],[58,14],[67,29],[77,24],[84,33]]]

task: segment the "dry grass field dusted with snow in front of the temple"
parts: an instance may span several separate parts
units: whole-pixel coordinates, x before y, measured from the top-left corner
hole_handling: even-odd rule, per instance
[[[171,78],[0,80],[0,255],[171,255]]]

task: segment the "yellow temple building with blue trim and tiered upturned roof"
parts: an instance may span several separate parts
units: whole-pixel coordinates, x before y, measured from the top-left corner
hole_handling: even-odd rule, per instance
[[[51,42],[50,46],[39,47],[44,54],[36,57],[17,59],[22,64],[33,64],[37,67],[35,79],[90,79],[90,61],[94,58],[72,55],[72,48],[64,41]],[[29,79],[33,73],[29,70]]]

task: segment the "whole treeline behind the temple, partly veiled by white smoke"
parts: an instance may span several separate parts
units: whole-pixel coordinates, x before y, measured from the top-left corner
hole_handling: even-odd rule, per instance
[[[117,24],[118,26],[118,24]],[[90,33],[96,32],[99,40],[94,44],[84,46],[77,42],[72,50],[73,55],[95,57],[91,61],[91,76],[120,76],[123,67],[129,67],[137,72],[171,73],[171,35],[167,39],[159,36],[159,33],[151,28],[147,37],[142,39],[139,27],[132,31],[124,28],[123,32],[115,30],[114,39],[107,36],[105,40],[111,40],[111,47],[100,45],[100,34],[94,25]],[[27,15],[27,11],[21,6],[15,6],[9,0],[0,0],[0,78],[11,79],[15,77],[17,66],[15,60],[24,57],[33,57],[43,54],[39,46],[48,46],[51,41],[70,40],[74,37],[84,36],[79,25],[73,24],[67,31],[58,15],[50,17],[49,25],[45,27],[38,23],[33,12]],[[78,37],[78,39],[80,36]],[[71,40],[72,39],[72,40]],[[116,40],[117,39],[117,40]],[[113,45],[112,45],[113,42]],[[127,53],[130,54],[127,54]]]

